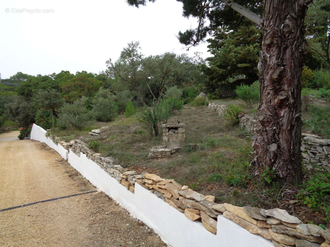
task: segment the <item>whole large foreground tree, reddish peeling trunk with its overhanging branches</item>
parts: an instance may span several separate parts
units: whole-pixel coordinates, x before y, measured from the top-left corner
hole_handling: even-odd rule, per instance
[[[229,15],[223,13],[227,7],[262,30],[258,130],[252,138],[255,156],[251,164],[256,176],[260,177],[267,166],[274,169],[280,183],[301,182],[300,77],[306,43],[304,17],[313,0],[263,0],[262,5],[246,0],[179,1],[183,3],[183,15],[199,18],[196,29],[179,33],[179,40],[186,45],[198,44],[215,25],[226,25]],[[127,2],[135,6],[146,4],[146,0]],[[262,16],[253,12],[260,6]]]

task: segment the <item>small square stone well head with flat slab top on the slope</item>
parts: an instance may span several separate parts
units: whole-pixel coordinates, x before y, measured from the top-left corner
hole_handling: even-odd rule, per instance
[[[163,145],[167,148],[179,148],[185,142],[186,124],[162,124]]]

